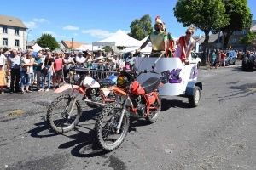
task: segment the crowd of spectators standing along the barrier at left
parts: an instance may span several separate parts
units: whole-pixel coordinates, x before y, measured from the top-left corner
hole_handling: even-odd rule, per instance
[[[111,55],[98,51],[96,54],[86,50],[84,53],[56,53],[49,48],[34,52],[33,48],[26,51],[9,49],[3,53],[0,48],[0,93],[9,88],[9,93],[31,93],[32,91],[48,92],[61,87],[61,82],[71,82],[72,65],[94,70],[116,71],[117,69],[134,69],[133,53],[125,60],[122,55]],[[95,76],[95,75],[93,75]],[[108,72],[97,73],[96,78],[108,77]]]

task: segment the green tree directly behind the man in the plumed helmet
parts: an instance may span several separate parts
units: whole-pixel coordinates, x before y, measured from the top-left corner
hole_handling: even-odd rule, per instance
[[[128,35],[137,40],[142,40],[153,31],[151,17],[149,14],[145,14],[141,19],[133,20],[130,28],[131,31]]]

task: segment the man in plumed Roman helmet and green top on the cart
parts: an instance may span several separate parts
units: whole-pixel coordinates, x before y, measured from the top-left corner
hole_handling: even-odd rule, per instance
[[[167,35],[163,30],[163,22],[160,20],[160,16],[155,18],[154,30],[148,36],[146,42],[137,49],[140,52],[143,48],[148,45],[148,42],[152,43],[152,53],[165,53],[167,50]],[[160,54],[151,54],[150,57],[159,57]]]

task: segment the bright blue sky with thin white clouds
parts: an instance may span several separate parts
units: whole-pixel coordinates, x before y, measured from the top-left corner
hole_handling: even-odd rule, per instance
[[[176,1],[149,0],[12,0],[12,5],[3,5],[1,14],[20,18],[29,30],[28,41],[37,39],[44,32],[52,34],[58,42],[73,38],[74,42],[100,41],[119,29],[129,32],[130,24],[144,14],[154,18],[160,15],[166,22],[167,31],[173,37],[180,37],[186,31],[173,15]],[[248,0],[248,6],[256,20],[255,0]],[[200,30],[195,35],[203,34]]]

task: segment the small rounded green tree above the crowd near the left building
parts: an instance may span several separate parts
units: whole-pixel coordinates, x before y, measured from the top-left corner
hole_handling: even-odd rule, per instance
[[[37,43],[42,48],[49,48],[50,50],[55,50],[55,48],[60,48],[58,42],[55,37],[52,37],[51,34],[42,34],[41,37],[37,39]]]

